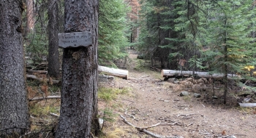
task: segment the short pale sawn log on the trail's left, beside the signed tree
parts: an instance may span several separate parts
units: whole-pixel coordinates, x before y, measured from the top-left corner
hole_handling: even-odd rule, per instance
[[[107,75],[110,75],[110,76],[117,76],[124,79],[128,79],[128,74],[129,74],[128,70],[121,70],[118,68],[108,68],[101,65],[99,65],[98,71],[106,73]]]

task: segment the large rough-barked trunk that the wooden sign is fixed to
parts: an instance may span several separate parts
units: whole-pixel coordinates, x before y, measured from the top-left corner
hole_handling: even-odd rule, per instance
[[[61,114],[56,137],[89,137],[97,119],[98,0],[65,0],[64,31],[91,31],[92,46],[65,48],[62,65]],[[92,126],[91,126],[92,124]]]

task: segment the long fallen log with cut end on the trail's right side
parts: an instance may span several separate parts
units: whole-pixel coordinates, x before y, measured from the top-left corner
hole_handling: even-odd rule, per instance
[[[165,77],[165,78],[176,78],[178,76],[192,76],[193,74],[193,71],[182,71],[181,73],[181,70],[162,70],[162,77]],[[224,77],[224,74],[223,73],[213,73],[213,74],[210,74],[208,72],[198,72],[198,71],[195,71],[195,74],[196,76],[200,77],[200,78],[223,78]],[[232,78],[232,77],[239,77],[238,75],[236,74],[227,74],[227,78]]]

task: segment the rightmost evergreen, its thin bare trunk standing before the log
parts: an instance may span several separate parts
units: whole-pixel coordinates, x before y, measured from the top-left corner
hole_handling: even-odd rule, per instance
[[[255,9],[252,1],[216,1],[209,3],[208,37],[211,38],[205,54],[208,68],[217,73],[224,73],[224,103],[227,101],[227,73],[243,73],[244,66],[252,63],[255,43],[249,33],[254,31],[252,19]],[[219,11],[219,12],[216,12]],[[211,32],[211,33],[210,33]],[[211,56],[210,56],[211,55]]]

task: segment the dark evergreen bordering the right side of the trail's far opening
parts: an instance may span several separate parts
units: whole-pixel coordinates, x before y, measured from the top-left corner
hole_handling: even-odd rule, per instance
[[[171,8],[171,1],[141,1],[139,49],[147,59],[159,58],[162,68],[168,66],[167,56],[170,49],[161,49],[159,46],[167,44],[165,38],[172,34],[170,30],[161,28],[162,25],[165,25],[165,19],[170,17],[162,15],[162,12]]]

